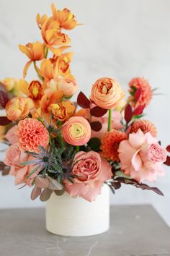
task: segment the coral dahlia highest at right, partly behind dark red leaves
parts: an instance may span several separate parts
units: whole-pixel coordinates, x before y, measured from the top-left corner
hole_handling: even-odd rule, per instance
[[[137,106],[139,105],[148,106],[152,98],[152,89],[148,81],[145,80],[143,77],[135,77],[133,78],[133,80],[129,82],[129,87],[130,87],[129,92],[133,96],[135,94],[135,91],[140,89],[141,93],[140,93],[140,98],[138,99]],[[130,99],[132,99],[132,97],[130,97]]]

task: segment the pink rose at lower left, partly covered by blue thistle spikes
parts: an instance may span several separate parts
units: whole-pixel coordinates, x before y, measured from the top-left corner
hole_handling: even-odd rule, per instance
[[[31,164],[29,165],[20,165],[20,163],[24,163],[25,161],[33,161],[36,158],[24,153],[19,150],[17,143],[11,145],[9,149],[6,151],[6,157],[4,163],[6,166],[10,166],[9,174],[15,176],[15,184],[25,183],[29,186],[32,185],[32,182],[37,176],[39,171],[35,171],[34,174],[27,179],[27,176],[31,173],[31,171],[35,168]]]

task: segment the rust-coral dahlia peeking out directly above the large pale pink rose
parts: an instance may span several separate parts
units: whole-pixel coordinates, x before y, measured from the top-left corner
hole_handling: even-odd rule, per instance
[[[138,129],[141,129],[143,133],[150,132],[153,137],[157,135],[156,127],[148,120],[134,121],[133,124],[131,124],[129,133],[138,132]]]

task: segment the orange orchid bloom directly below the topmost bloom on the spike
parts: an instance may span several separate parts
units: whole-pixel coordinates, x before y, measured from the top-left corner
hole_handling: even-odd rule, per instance
[[[70,38],[68,38],[68,35],[61,33],[60,24],[53,17],[43,23],[41,34],[45,44],[49,47],[63,46],[70,43]]]

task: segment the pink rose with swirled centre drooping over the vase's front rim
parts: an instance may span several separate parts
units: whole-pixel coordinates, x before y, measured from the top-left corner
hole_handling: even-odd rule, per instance
[[[110,164],[94,151],[76,153],[73,161],[73,184],[64,182],[71,197],[83,197],[89,202],[101,193],[102,184],[112,177]]]

